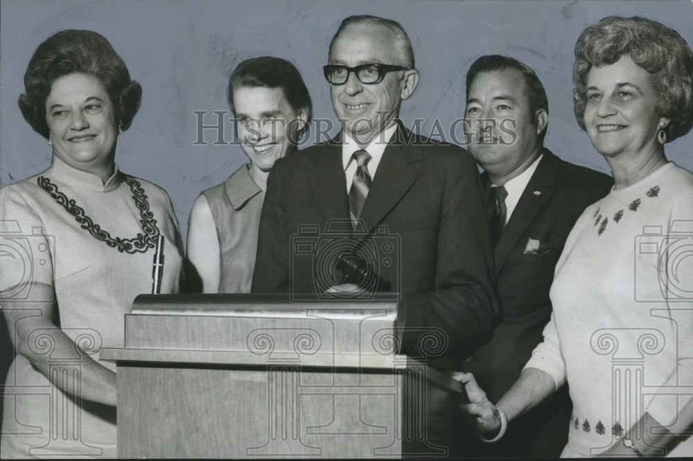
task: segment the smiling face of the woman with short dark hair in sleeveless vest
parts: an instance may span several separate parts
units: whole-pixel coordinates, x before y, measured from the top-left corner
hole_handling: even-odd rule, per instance
[[[306,111],[296,112],[281,88],[234,87],[234,110],[240,146],[264,172],[296,147],[307,120]]]

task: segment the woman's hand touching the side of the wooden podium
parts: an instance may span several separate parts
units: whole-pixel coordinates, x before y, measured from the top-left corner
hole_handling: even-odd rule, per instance
[[[479,387],[471,373],[455,372],[452,374],[464,385],[469,403],[461,403],[459,408],[469,426],[475,427],[484,437],[493,438],[498,435],[501,427],[498,408],[486,398],[486,392]]]

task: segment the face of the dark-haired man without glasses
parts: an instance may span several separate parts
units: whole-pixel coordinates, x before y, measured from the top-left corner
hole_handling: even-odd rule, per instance
[[[525,171],[541,152],[548,115],[532,113],[517,69],[479,73],[469,86],[465,118],[473,134],[467,148],[496,185]]]

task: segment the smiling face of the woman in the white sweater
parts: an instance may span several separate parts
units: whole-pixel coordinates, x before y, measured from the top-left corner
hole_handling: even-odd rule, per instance
[[[660,150],[659,128],[668,123],[656,110],[649,73],[623,55],[593,67],[587,76],[585,125],[595,148],[607,157],[647,156]]]

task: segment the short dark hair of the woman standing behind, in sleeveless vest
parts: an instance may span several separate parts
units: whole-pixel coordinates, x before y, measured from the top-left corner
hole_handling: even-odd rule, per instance
[[[285,59],[260,56],[245,60],[238,64],[229,77],[227,98],[231,112],[236,114],[234,107],[234,87],[267,87],[281,88],[286,101],[292,109],[299,112],[305,109],[308,114],[305,130],[308,130],[313,116],[313,103],[310,101],[308,88],[301,78],[298,69]]]

